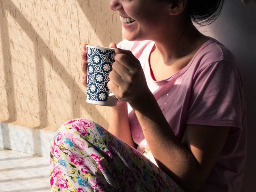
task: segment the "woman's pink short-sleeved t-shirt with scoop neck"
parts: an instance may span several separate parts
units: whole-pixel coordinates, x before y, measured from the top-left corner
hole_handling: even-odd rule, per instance
[[[245,101],[241,75],[233,54],[214,39],[207,41],[188,65],[162,81],[154,81],[149,66],[153,41],[124,40],[119,48],[140,60],[148,87],[174,134],[181,140],[185,124],[230,126],[224,148],[202,192],[240,192],[246,156]],[[129,107],[132,138],[138,150],[150,154],[147,141]],[[153,157],[148,156],[155,163]]]

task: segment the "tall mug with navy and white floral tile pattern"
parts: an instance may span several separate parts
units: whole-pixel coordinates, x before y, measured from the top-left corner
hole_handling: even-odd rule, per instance
[[[86,45],[87,103],[116,106],[117,98],[108,89],[109,73],[115,62],[115,49]]]

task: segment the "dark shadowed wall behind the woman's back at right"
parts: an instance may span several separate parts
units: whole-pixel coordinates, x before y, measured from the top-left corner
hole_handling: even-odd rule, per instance
[[[256,6],[241,0],[226,1],[223,12],[205,33],[218,39],[230,49],[237,61],[244,81],[247,103],[247,162],[244,192],[256,191]]]

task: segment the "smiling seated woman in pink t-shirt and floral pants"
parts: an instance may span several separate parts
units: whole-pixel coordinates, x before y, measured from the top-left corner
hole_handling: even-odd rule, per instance
[[[61,126],[51,148],[52,191],[241,191],[241,76],[232,53],[192,22],[212,22],[222,4],[111,0],[126,39],[110,44],[108,87],[119,101],[108,131],[85,119]],[[81,56],[86,86],[85,45]]]

